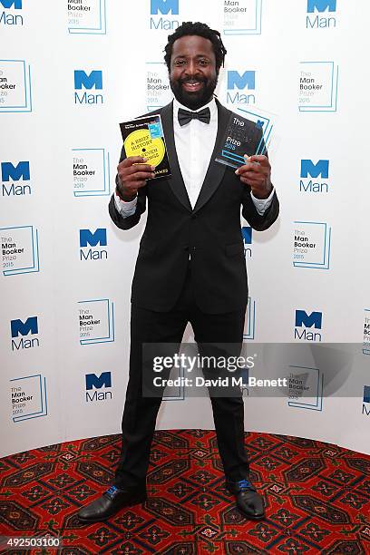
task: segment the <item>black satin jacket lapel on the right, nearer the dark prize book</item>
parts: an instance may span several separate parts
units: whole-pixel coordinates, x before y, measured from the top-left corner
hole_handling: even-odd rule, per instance
[[[216,136],[215,148],[213,149],[212,156],[210,157],[209,168],[207,170],[206,177],[204,178],[203,185],[200,190],[200,196],[198,197],[197,203],[194,207],[194,212],[198,211],[199,209],[201,209],[202,206],[206,204],[215,190],[217,190],[217,188],[219,187],[219,183],[221,182],[225,174],[226,166],[215,161],[215,157],[216,152],[219,151],[221,147],[221,141],[229,123],[230,112],[227,108],[221,106],[219,101],[216,101],[216,103],[219,112],[218,131]]]

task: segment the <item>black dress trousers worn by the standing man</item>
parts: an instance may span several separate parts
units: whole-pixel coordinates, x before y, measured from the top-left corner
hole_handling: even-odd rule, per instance
[[[161,397],[142,396],[142,344],[180,345],[188,322],[198,345],[205,343],[240,344],[243,339],[245,310],[225,314],[206,314],[195,302],[191,265],[180,298],[169,312],[154,312],[131,306],[130,375],[122,416],[122,452],[114,485],[145,482]],[[226,477],[231,481],[248,478],[248,457],[244,447],[244,403],[241,394],[233,397],[210,396],[219,454]]]

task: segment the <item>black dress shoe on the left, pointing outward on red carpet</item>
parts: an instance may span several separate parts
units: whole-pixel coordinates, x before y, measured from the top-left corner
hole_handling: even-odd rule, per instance
[[[102,497],[96,499],[83,509],[78,511],[77,516],[83,522],[100,522],[106,521],[123,507],[136,505],[145,501],[147,492],[145,484],[138,487],[127,487],[118,489],[112,486],[102,494]]]

